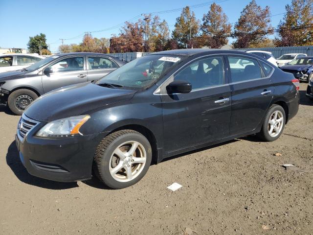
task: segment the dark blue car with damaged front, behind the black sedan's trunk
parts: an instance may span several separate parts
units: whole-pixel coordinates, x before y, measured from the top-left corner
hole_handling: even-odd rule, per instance
[[[309,82],[313,72],[313,56],[298,57],[289,62],[288,65],[282,66],[281,70],[292,73],[300,81]]]

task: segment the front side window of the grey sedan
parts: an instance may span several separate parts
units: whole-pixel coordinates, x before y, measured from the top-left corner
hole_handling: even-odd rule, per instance
[[[51,65],[50,68],[54,72],[69,72],[84,70],[84,57],[70,57],[63,59]]]

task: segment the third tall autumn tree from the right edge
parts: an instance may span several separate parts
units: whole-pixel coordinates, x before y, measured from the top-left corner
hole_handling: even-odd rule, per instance
[[[213,3],[208,13],[203,15],[201,25],[202,45],[211,48],[220,48],[228,43],[227,36],[231,32],[231,24],[223,12],[223,8]]]

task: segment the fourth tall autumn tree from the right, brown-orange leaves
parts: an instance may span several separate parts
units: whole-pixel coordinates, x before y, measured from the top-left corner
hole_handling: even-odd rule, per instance
[[[186,6],[182,9],[180,16],[176,18],[175,29],[172,33],[179,48],[187,48],[190,44],[190,25],[191,37],[194,38],[198,35],[200,21],[196,19],[193,11],[190,12],[189,6]]]

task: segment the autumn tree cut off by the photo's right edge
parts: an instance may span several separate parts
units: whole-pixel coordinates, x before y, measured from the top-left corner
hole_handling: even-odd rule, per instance
[[[278,25],[277,47],[313,45],[313,0],[292,0]],[[311,24],[311,25],[310,25]],[[304,26],[309,25],[309,26]]]

